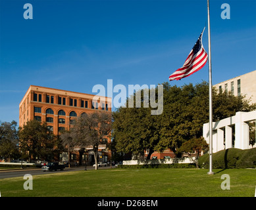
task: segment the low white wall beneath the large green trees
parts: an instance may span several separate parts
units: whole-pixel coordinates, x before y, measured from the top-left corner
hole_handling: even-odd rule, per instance
[[[123,165],[146,165],[146,164],[173,164],[173,163],[195,163],[195,157],[192,158],[170,158],[170,159],[145,159],[145,160],[124,160]]]

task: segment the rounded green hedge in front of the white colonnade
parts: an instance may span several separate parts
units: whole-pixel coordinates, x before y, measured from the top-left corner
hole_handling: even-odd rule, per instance
[[[198,159],[200,168],[209,168],[209,154]],[[240,150],[230,148],[213,154],[213,169],[245,169],[256,167],[256,148]]]

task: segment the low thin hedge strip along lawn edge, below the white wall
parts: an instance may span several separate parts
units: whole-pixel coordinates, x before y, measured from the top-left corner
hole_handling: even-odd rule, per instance
[[[118,165],[122,169],[155,169],[155,168],[195,168],[195,163]]]

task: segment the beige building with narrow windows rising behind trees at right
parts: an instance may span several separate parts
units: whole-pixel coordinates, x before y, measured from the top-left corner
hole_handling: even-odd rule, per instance
[[[218,91],[231,92],[234,96],[251,98],[251,103],[256,103],[256,70],[247,74],[234,77],[213,85]]]

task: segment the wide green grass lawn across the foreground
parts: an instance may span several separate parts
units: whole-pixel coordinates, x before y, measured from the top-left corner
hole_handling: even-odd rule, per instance
[[[1,196],[159,197],[255,196],[255,169],[105,169],[33,177],[33,190],[24,190],[23,177],[0,179]],[[230,176],[222,190],[221,175]]]

